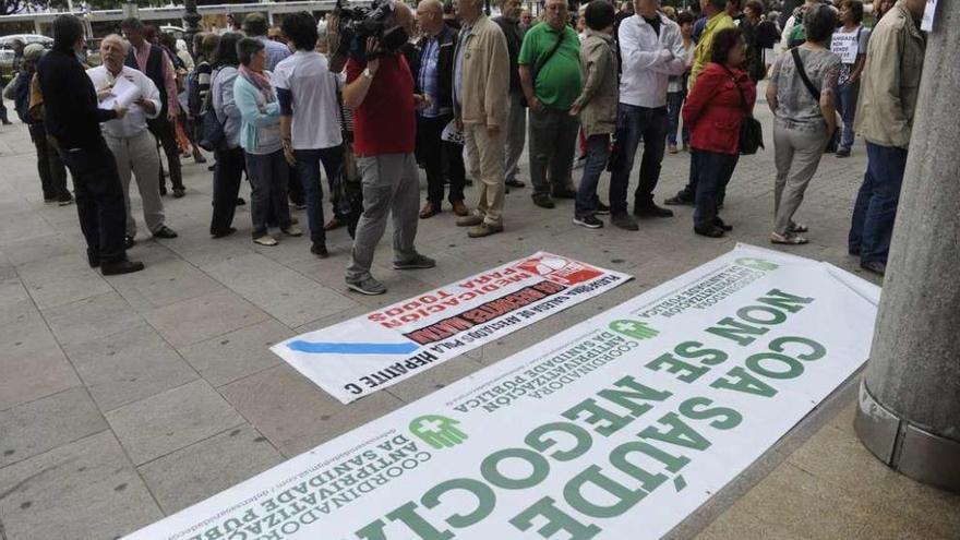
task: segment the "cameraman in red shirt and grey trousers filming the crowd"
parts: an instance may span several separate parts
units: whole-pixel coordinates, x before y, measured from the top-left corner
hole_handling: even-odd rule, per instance
[[[370,274],[370,267],[388,214],[394,225],[393,267],[436,265],[413,247],[420,196],[420,175],[413,157],[415,111],[423,99],[413,95],[413,76],[399,47],[389,50],[382,45],[406,43],[408,38],[398,34],[404,33],[412,14],[400,2],[389,5],[391,13],[382,23],[385,32],[367,37],[365,53],[355,51],[347,61],[344,88],[344,103],[353,109],[353,149],[363,187],[363,214],[357,224],[346,281],[347,287],[363,295],[386,292],[386,287]]]

